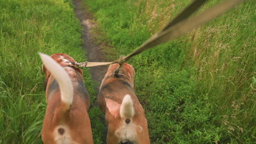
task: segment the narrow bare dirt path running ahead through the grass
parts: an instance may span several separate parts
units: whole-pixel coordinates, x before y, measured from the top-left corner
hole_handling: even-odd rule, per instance
[[[104,53],[101,52],[101,47],[94,43],[92,36],[89,33],[90,29],[94,27],[94,24],[91,22],[92,16],[86,12],[84,7],[81,7],[82,0],[73,0],[74,11],[80,24],[83,27],[83,49],[87,51],[86,57],[89,62],[103,62]],[[90,68],[90,74],[92,75],[92,80],[97,82],[95,87],[97,94],[100,87],[101,80],[107,72],[108,66],[97,66]],[[96,95],[97,96],[97,95]]]

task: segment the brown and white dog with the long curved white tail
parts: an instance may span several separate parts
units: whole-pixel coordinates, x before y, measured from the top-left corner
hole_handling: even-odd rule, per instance
[[[45,74],[47,100],[42,140],[44,143],[93,143],[88,116],[90,97],[83,72],[65,53],[51,57],[39,53]]]

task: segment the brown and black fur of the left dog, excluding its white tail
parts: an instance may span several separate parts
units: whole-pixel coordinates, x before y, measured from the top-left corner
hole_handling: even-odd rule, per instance
[[[70,109],[65,110],[65,104],[61,101],[60,88],[56,85],[56,80],[54,80],[50,71],[43,65],[45,79],[48,81],[46,82],[45,91],[47,107],[43,122],[42,140],[44,143],[55,143],[56,128],[63,125],[66,129],[64,131],[61,129],[59,134],[68,133],[73,140],[71,143],[93,143],[88,116],[90,97],[84,87],[83,71],[59,59],[61,56],[69,62],[74,62],[74,59],[65,53],[51,55],[51,58],[66,70],[73,83],[73,103]]]

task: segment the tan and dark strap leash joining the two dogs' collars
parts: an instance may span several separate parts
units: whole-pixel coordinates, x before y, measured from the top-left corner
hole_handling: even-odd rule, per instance
[[[189,19],[189,16],[195,13],[197,9],[199,9],[205,2],[208,0],[195,0],[192,2],[187,8],[185,8],[182,13],[176,16],[171,22],[169,22],[160,32],[155,33],[151,38],[149,38],[145,43],[141,46],[137,47],[137,49],[131,52],[129,55],[124,56],[121,55],[117,61],[114,62],[82,62],[76,63],[79,67],[95,67],[98,65],[108,65],[119,63],[119,67],[115,70],[118,73],[118,69],[121,65],[128,61],[131,57],[138,55],[139,53],[150,49],[156,45],[167,43],[172,39],[175,39],[189,31],[192,31],[194,28],[200,27],[203,23],[206,23],[217,17],[235,5],[241,3],[245,0],[226,0],[223,3],[217,4],[212,8],[209,8],[203,11],[201,14],[194,16]]]

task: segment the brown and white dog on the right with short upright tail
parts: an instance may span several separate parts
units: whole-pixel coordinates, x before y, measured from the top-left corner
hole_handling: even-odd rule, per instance
[[[107,143],[150,143],[147,119],[133,91],[135,70],[124,63],[114,74],[118,65],[109,66],[98,94],[98,105],[108,126]]]

